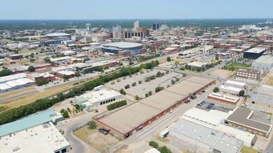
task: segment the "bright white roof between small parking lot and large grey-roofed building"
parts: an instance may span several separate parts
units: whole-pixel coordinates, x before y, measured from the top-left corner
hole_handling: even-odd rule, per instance
[[[223,124],[229,114],[216,110],[204,111],[200,108],[191,108],[189,111],[186,111],[184,115],[195,120],[218,126],[219,124]]]

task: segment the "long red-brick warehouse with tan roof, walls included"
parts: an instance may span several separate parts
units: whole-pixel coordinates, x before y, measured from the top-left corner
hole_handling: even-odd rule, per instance
[[[213,83],[214,81],[210,79],[190,77],[119,111],[96,115],[93,120],[98,126],[110,129],[111,134],[125,139],[177,108],[193,95],[212,86]]]

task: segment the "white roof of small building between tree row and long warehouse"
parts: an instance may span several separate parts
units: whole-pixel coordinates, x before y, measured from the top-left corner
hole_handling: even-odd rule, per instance
[[[104,99],[110,99],[111,97],[117,97],[121,94],[119,92],[115,92],[114,90],[98,90],[95,92],[87,92],[86,94],[82,95],[82,97],[88,99],[90,104],[96,103],[98,101],[103,101]]]

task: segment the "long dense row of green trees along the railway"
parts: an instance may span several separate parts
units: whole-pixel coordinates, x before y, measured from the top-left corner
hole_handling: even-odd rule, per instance
[[[150,67],[151,65],[152,67]],[[104,76],[101,75],[98,79],[88,81],[82,86],[70,90],[66,94],[59,93],[56,97],[52,97],[51,99],[37,99],[33,103],[19,106],[17,108],[11,108],[0,113],[0,124],[13,122],[27,115],[31,115],[38,111],[43,111],[47,108],[50,108],[52,105],[57,104],[58,102],[64,101],[64,99],[75,97],[76,95],[82,95],[84,92],[92,90],[96,86],[103,85],[104,83],[108,83],[109,81],[115,80],[119,77],[124,77],[130,74],[135,74],[136,72],[140,72],[140,70],[144,67],[153,68],[155,66],[156,62],[152,61],[151,63],[142,64],[140,67],[122,67],[119,72],[113,72]]]

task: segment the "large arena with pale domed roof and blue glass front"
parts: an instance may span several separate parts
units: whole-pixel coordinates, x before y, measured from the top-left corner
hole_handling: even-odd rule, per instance
[[[132,42],[113,42],[103,45],[101,51],[104,54],[113,56],[131,56],[135,54],[145,54],[146,49],[142,44]]]

